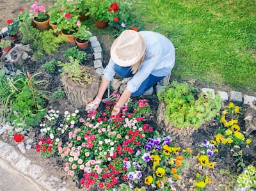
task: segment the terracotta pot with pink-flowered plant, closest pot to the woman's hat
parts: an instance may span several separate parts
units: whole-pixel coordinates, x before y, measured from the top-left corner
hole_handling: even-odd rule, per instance
[[[77,21],[78,30],[73,36],[76,38],[77,47],[81,50],[87,49],[89,44],[89,38],[92,37],[92,33],[88,31],[88,27],[85,24],[81,24],[80,20]]]

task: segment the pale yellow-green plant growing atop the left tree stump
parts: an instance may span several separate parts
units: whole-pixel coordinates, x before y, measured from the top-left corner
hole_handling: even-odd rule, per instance
[[[59,66],[62,66],[61,72],[74,82],[78,82],[81,85],[92,84],[92,68],[79,65],[79,61],[74,59],[74,57],[70,56],[68,63],[61,63],[61,61],[58,61],[58,64]]]

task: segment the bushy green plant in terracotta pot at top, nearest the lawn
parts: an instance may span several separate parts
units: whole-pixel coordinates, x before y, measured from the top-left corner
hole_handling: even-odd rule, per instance
[[[108,26],[108,22],[111,19],[111,11],[109,10],[109,1],[92,1],[90,4],[90,15],[97,27],[104,28]]]

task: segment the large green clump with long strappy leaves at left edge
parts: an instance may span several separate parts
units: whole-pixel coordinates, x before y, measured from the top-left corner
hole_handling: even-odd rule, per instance
[[[1,120],[13,123],[15,128],[28,129],[36,126],[46,115],[46,95],[39,91],[44,80],[36,80],[35,73],[31,77],[24,73],[6,77],[1,73]]]

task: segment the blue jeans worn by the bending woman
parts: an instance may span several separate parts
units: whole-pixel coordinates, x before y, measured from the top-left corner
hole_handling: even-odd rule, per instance
[[[124,67],[124,66],[115,65],[114,70],[115,70],[116,74],[119,75],[120,77],[126,78],[126,77],[132,77],[134,75],[134,74],[132,74],[131,66]],[[148,75],[147,79],[145,79],[142,82],[140,88],[137,91],[135,91],[134,93],[132,93],[131,96],[136,97],[136,96],[142,95],[145,91],[147,91],[152,86],[154,86],[154,84],[156,84],[160,80],[164,79],[164,77],[165,76],[157,77],[152,74]]]

